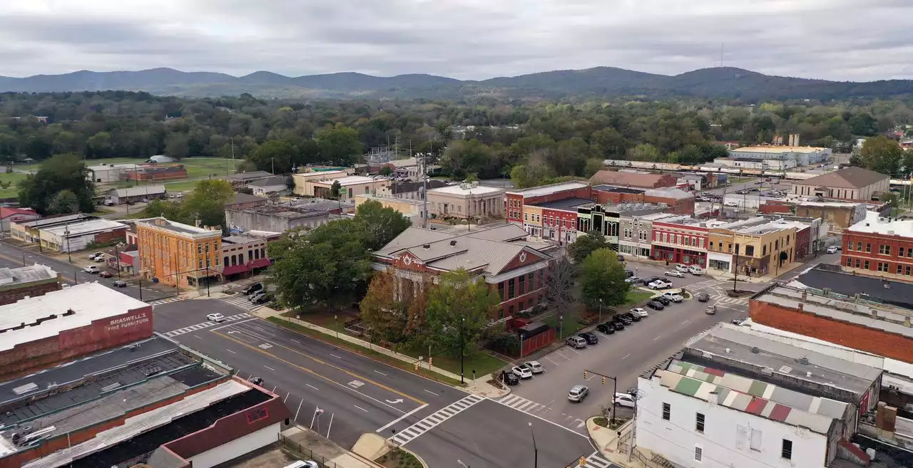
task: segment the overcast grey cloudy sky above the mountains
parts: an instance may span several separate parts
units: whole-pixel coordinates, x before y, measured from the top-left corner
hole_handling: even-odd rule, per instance
[[[913,0],[0,0],[0,75],[170,67],[484,79],[719,65],[913,78]]]

